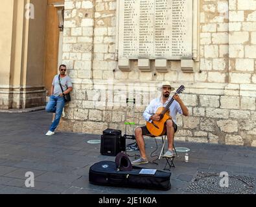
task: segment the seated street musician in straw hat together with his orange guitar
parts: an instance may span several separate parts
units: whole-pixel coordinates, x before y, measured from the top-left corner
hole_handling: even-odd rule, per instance
[[[180,96],[178,96],[178,92],[183,91],[184,89],[184,87],[180,88],[174,96],[170,97],[170,92],[174,91],[174,88],[170,86],[169,82],[163,83],[159,88],[162,91],[161,97],[152,100],[148,107],[146,107],[145,112],[143,113],[143,118],[145,118],[147,123],[146,125],[135,129],[135,138],[141,157],[134,160],[132,162],[133,165],[148,163],[143,135],[167,135],[168,150],[163,157],[174,157],[174,133],[177,131],[176,115],[180,113],[184,116],[189,116],[187,107],[182,102]]]

